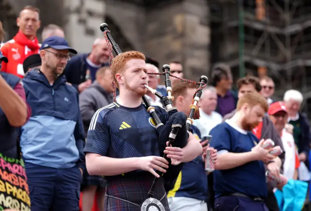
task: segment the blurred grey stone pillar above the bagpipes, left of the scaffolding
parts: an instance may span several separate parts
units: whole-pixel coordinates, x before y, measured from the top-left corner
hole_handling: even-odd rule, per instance
[[[146,54],[160,65],[181,61],[184,76],[198,81],[209,62],[209,8],[206,0],[184,0],[146,13]]]

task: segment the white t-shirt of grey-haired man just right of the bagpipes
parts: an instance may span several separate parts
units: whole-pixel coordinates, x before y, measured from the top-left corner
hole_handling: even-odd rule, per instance
[[[209,131],[212,130],[215,126],[222,123],[223,117],[217,112],[212,112],[210,115],[205,114],[202,109],[200,111],[200,119],[193,120],[193,125],[196,126],[200,132],[201,137],[209,134]]]

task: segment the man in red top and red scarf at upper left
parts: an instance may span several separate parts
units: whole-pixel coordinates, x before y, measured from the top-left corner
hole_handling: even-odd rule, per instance
[[[33,6],[24,7],[17,18],[19,31],[12,40],[2,47],[2,54],[9,62],[2,62],[2,71],[23,78],[24,60],[35,53],[39,53],[40,44],[36,38],[36,32],[40,27],[39,9]]]

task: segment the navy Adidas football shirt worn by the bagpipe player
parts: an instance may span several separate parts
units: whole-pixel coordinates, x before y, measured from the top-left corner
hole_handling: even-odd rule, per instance
[[[165,124],[169,118],[167,112],[158,106],[154,107]],[[158,133],[143,104],[127,108],[112,103],[94,114],[84,152],[110,158],[160,156]]]

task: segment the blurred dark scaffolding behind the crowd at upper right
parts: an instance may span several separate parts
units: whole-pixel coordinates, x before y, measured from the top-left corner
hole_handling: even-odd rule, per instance
[[[311,1],[211,0],[209,5],[211,62],[230,65],[235,79],[268,75],[276,83],[276,100],[288,89],[301,91],[311,119]]]

